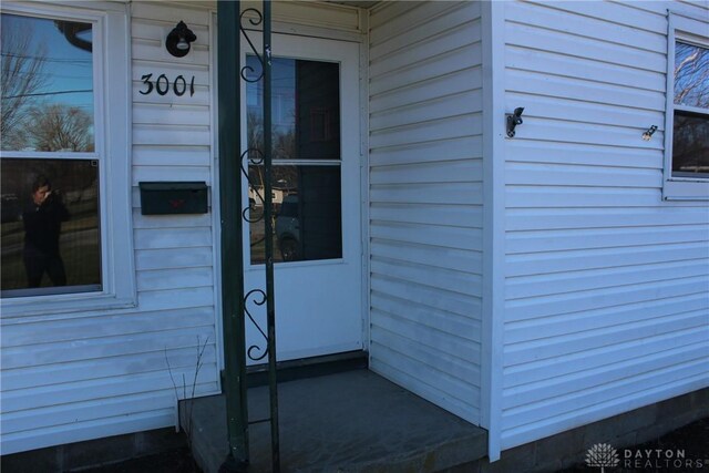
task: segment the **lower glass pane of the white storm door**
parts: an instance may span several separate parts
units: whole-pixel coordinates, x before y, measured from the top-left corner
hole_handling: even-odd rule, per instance
[[[249,168],[263,182],[263,168]],[[342,257],[340,166],[274,166],[274,261]],[[263,215],[263,187],[249,187],[251,219]],[[251,264],[264,263],[264,220],[251,223]]]

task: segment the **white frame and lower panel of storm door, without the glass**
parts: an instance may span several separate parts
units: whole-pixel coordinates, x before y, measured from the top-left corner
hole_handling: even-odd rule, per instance
[[[261,38],[251,42],[260,50]],[[274,58],[286,56],[312,61],[337,61],[340,64],[340,119],[341,119],[341,223],[342,257],[318,261],[295,261],[276,265],[276,330],[278,359],[298,359],[330,354],[364,348],[364,308],[361,306],[362,278],[360,259],[362,250],[361,229],[361,172],[359,130],[359,48],[357,43],[274,34]],[[242,63],[253,53],[247,42],[242,43]],[[247,83],[240,83],[243,97],[242,120],[246,120]],[[246,150],[247,131],[242,127],[243,146]],[[248,202],[246,178],[243,179],[243,203]],[[263,289],[260,278],[263,265],[251,265],[249,253],[249,228],[243,233],[245,264],[245,291]],[[287,302],[286,302],[287,301]],[[247,301],[247,308],[259,325],[265,323],[263,306]],[[260,313],[264,312],[264,313]],[[260,313],[260,316],[258,315]],[[261,327],[263,328],[263,327]],[[260,345],[258,330],[247,321],[247,345]],[[259,350],[255,350],[259,354]],[[254,360],[247,360],[251,362]],[[263,362],[263,361],[260,361]]]

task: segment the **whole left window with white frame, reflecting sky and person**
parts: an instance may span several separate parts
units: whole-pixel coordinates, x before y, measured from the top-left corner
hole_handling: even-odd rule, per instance
[[[125,8],[4,2],[1,34],[2,312],[133,305]]]

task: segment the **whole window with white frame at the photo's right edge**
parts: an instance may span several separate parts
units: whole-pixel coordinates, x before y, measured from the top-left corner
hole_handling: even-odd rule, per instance
[[[666,199],[709,199],[709,38],[702,33],[706,24],[670,14]]]

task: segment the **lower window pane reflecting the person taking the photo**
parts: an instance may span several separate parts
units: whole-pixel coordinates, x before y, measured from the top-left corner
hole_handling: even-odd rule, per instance
[[[99,163],[0,160],[2,297],[101,290]]]

